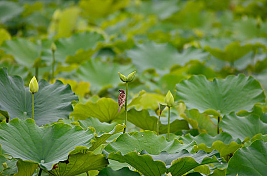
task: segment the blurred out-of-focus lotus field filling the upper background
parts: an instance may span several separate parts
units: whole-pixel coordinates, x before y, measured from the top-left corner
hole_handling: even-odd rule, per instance
[[[80,102],[117,99],[118,72],[133,70],[130,98],[162,100],[195,74],[244,73],[266,89],[266,18],[267,0],[0,1],[0,67],[26,85],[33,74],[54,82],[54,42],[55,78]]]

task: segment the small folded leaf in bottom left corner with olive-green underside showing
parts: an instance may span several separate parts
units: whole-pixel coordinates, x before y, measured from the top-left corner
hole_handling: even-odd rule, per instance
[[[7,163],[7,168],[0,169],[0,175],[15,175],[15,176],[32,176],[35,170],[38,167],[38,164],[32,161],[23,161],[21,159],[3,159],[5,158],[3,155],[0,156],[0,163]],[[2,165],[2,164],[1,164]]]

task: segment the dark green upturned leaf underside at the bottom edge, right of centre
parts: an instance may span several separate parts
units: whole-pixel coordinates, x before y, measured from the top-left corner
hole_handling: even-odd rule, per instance
[[[125,155],[118,152],[112,152],[109,154],[108,159],[113,159],[121,163],[128,163],[144,175],[163,175],[167,172],[167,168],[163,161],[154,161],[153,158],[148,155],[140,155],[136,151],[131,151]]]

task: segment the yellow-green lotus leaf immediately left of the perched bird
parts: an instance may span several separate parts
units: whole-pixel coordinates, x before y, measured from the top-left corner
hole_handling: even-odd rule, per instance
[[[113,99],[101,98],[96,103],[91,101],[86,104],[77,104],[70,116],[74,120],[85,120],[88,117],[97,118],[100,122],[112,122],[124,109],[118,113],[119,105]]]

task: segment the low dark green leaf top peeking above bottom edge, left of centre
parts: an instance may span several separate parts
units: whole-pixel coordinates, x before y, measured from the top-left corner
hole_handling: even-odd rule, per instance
[[[97,176],[121,176],[121,175],[140,176],[138,172],[132,171],[128,167],[123,167],[119,170],[113,170],[110,167],[106,167],[100,170]]]

